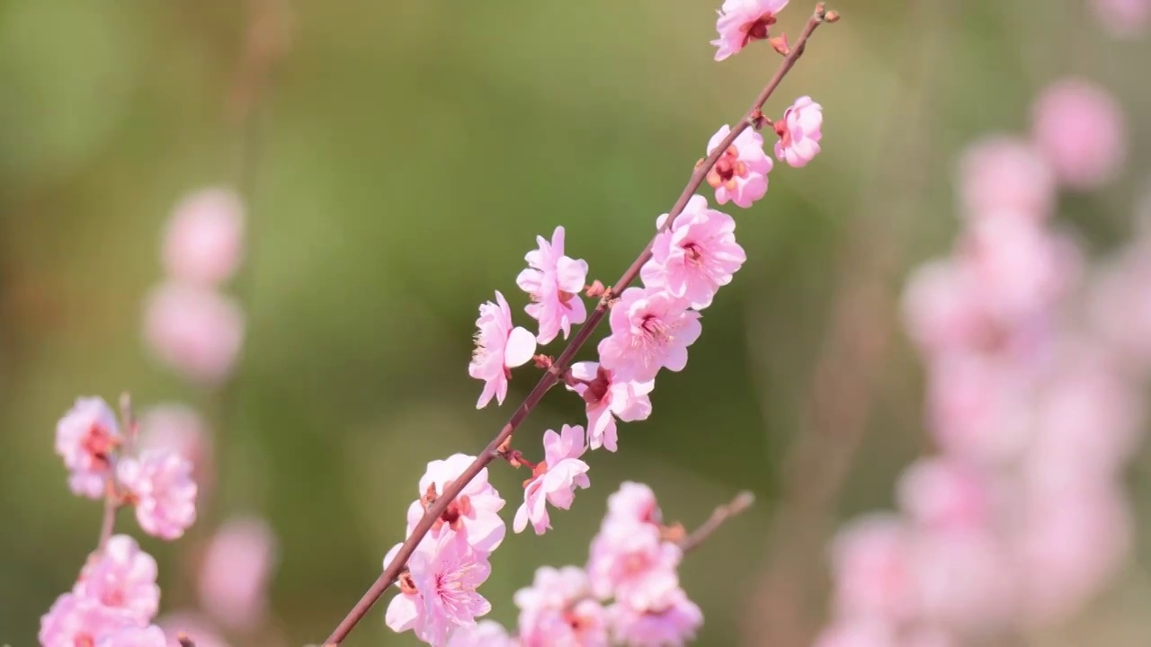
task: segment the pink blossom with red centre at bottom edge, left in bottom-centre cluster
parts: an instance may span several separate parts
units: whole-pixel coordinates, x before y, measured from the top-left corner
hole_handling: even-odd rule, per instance
[[[608,645],[607,614],[592,599],[587,573],[576,566],[541,566],[532,586],[516,592],[523,647]]]

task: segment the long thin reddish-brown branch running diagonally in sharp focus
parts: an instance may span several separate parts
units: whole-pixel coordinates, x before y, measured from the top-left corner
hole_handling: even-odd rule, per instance
[[[680,212],[684,211],[684,207],[687,206],[687,201],[703,183],[707,174],[719,160],[719,157],[723,155],[724,152],[732,145],[735,138],[754,123],[759,123],[763,120],[763,104],[767,102],[767,100],[776,91],[776,87],[779,86],[779,83],[783,82],[785,76],[787,76],[787,73],[795,66],[795,61],[798,61],[803,54],[807,40],[811,37],[811,33],[815,32],[816,28],[818,28],[823,22],[824,3],[820,2],[811,18],[808,21],[807,26],[803,28],[803,32],[795,41],[795,45],[779,64],[776,74],[772,75],[770,81],[768,81],[768,84],[760,92],[759,97],[755,98],[752,107],[748,108],[747,113],[740,119],[739,123],[731,129],[727,137],[725,137],[702,162],[696,165],[695,170],[687,181],[687,185],[684,187],[683,192],[679,195],[679,199],[676,200],[671,211],[668,212],[669,215],[663,226],[663,230],[666,230],[672,226]],[[608,313],[611,300],[618,297],[619,294],[635,280],[640,273],[640,268],[643,267],[643,264],[651,258],[651,246],[654,244],[655,237],[648,242],[647,246],[643,248],[643,251],[640,252],[640,256],[635,258],[619,280],[604,291],[599,305],[596,305],[592,314],[588,315],[587,322],[584,324],[584,326],[576,333],[572,341],[569,342],[567,348],[564,349],[555,363],[552,363],[551,367],[543,374],[542,378],[540,378],[540,381],[535,385],[532,391],[527,394],[527,397],[524,398],[524,402],[516,409],[503,428],[500,429],[500,433],[491,439],[491,442],[483,448],[483,451],[480,452],[475,460],[473,460],[472,464],[468,465],[467,469],[464,470],[464,472],[460,473],[460,475],[453,480],[450,486],[444,488],[443,494],[436,498],[435,503],[428,507],[428,509],[424,512],[424,517],[418,524],[416,524],[411,534],[404,541],[403,546],[401,546],[399,551],[396,553],[396,556],[391,560],[383,572],[380,573],[380,577],[376,578],[375,583],[373,583],[367,592],[360,597],[359,602],[352,607],[351,611],[348,612],[348,616],[345,616],[340,625],[336,626],[335,631],[331,632],[331,635],[329,635],[325,641],[326,647],[337,646],[343,642],[345,638],[348,638],[348,634],[351,633],[352,629],[355,629],[364,616],[367,615],[368,610],[372,609],[372,606],[380,600],[383,592],[387,591],[394,581],[396,581],[399,572],[407,564],[407,560],[412,556],[412,553],[416,551],[416,547],[419,546],[424,535],[432,530],[432,525],[435,524],[436,519],[439,519],[441,515],[443,515],[443,511],[448,509],[448,505],[450,505],[451,502],[459,496],[459,493],[464,490],[472,479],[487,467],[489,463],[500,457],[500,447],[511,437],[532,410],[534,410],[540,401],[543,399],[544,394],[547,394],[548,390],[556,385],[559,375],[563,375],[564,371],[571,366],[571,361],[576,357],[576,353],[579,352],[587,340],[592,336],[592,333],[595,332],[596,326],[599,326],[600,321],[602,321],[604,315]]]

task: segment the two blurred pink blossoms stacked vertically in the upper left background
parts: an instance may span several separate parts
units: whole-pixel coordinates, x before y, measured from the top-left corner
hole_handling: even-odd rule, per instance
[[[206,189],[176,205],[163,235],[168,279],[144,305],[144,340],[160,361],[195,382],[226,379],[243,344],[243,311],[219,290],[239,267],[243,234],[239,198]]]

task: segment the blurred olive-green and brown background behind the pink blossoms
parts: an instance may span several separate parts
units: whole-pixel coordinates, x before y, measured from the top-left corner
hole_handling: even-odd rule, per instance
[[[256,515],[279,538],[272,619],[234,641],[320,642],[402,538],[425,464],[478,451],[533,385],[520,370],[504,408],[474,409],[477,304],[498,289],[518,312],[523,256],[558,224],[569,253],[613,281],[775,69],[767,47],[711,60],[714,5],[0,2],[0,642],[35,644],[98,532],[100,507],[66,486],[55,421],[79,395],[124,390],[139,408],[190,404],[213,428],[204,530],[142,539],[163,608],[196,606],[213,524]],[[799,32],[806,5],[792,2],[784,31]],[[768,104],[818,100],[823,153],[777,165],[768,198],[738,214],[749,260],[706,312],[688,368],[661,376],[653,417],[623,428],[618,454],[592,456],[593,488],[552,532],[509,536],[493,556],[494,618],[513,624],[511,596],[538,565],[586,560],[619,482],[648,482],[688,527],[746,488],[756,508],[683,566],[707,618],[700,644],[801,644],[826,614],[838,520],[890,508],[899,470],[931,447],[898,298],[909,268],[951,246],[959,152],[1024,130],[1046,83],[1089,76],[1129,115],[1129,162],[1058,218],[1091,253],[1129,233],[1151,160],[1145,39],[1111,38],[1085,0],[836,8],[844,20]],[[275,22],[264,53],[282,54],[257,67],[262,87],[245,68],[261,20]],[[177,200],[237,182],[251,188],[229,287],[245,342],[230,381],[198,388],[151,356],[142,304]],[[554,393],[519,444],[582,420]],[[1130,475],[1139,530],[1149,467],[1144,451]],[[493,469],[504,492],[524,478]],[[129,513],[120,524],[136,533]],[[1144,535],[1065,644],[1103,623],[1106,644],[1145,645]],[[346,645],[413,645],[382,612]]]

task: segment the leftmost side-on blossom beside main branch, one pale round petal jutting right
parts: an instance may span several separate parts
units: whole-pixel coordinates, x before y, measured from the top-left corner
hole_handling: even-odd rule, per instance
[[[511,309],[503,295],[496,290],[496,303],[480,304],[480,318],[475,320],[479,332],[475,334],[475,351],[467,374],[477,380],[483,380],[483,393],[480,394],[477,409],[482,409],[491,402],[503,404],[508,396],[508,379],[510,368],[523,366],[535,353],[535,337],[527,328],[511,327]]]

